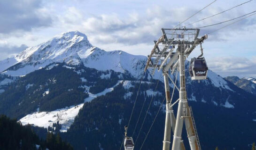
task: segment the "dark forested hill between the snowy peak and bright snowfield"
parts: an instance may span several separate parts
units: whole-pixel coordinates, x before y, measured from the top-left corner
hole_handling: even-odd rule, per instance
[[[102,79],[102,73],[111,75]],[[98,93],[115,85],[119,74],[83,66],[73,68],[64,63],[50,64],[10,83],[0,94],[0,113],[20,119],[36,111],[53,111],[78,105],[84,102],[89,92],[81,87],[81,77],[87,81],[84,84],[91,87],[90,92]],[[131,78],[130,75],[122,77]]]

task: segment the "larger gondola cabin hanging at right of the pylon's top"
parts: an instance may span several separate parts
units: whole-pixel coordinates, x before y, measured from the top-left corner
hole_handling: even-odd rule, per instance
[[[189,75],[192,80],[205,80],[207,78],[208,67],[204,57],[192,58],[189,65]]]

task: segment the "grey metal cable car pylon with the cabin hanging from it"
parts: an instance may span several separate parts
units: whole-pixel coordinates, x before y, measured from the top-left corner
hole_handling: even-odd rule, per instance
[[[168,32],[167,32],[168,31]],[[199,29],[162,29],[163,36],[155,42],[155,46],[148,55],[147,64],[145,67],[147,69],[153,69],[151,71],[152,75],[155,73],[155,69],[158,71],[162,70],[164,77],[164,88],[166,96],[166,117],[165,117],[165,128],[164,128],[164,138],[163,138],[163,150],[185,150],[184,143],[181,137],[183,124],[186,126],[186,133],[191,150],[201,150],[199,138],[196,133],[195,122],[192,114],[192,109],[187,103],[186,95],[186,77],[185,77],[185,60],[189,54],[194,50],[197,45],[201,45],[202,42],[207,39],[207,35],[198,38]],[[170,33],[171,32],[171,33]],[[167,34],[168,33],[168,34]],[[176,52],[175,52],[175,48]],[[192,73],[194,78],[192,80],[203,80],[206,79],[208,67],[206,65],[205,59],[202,55],[194,59],[194,62],[201,63],[198,67],[195,63],[192,64]],[[205,66],[203,66],[205,64]],[[202,67],[203,66],[203,67]],[[201,70],[200,70],[201,69]],[[202,69],[206,70],[204,72]],[[168,75],[169,70],[173,73],[175,70],[179,71],[179,89],[175,85]],[[198,73],[199,70],[199,73]],[[196,71],[196,72],[195,72]],[[201,74],[202,73],[202,74]],[[170,88],[169,88],[169,78],[171,82],[174,83],[173,88],[177,88],[179,91],[178,111],[177,119],[173,113],[172,106],[176,104],[171,104],[170,98]],[[177,77],[177,76],[176,76]],[[173,131],[173,142],[171,146],[171,130]]]

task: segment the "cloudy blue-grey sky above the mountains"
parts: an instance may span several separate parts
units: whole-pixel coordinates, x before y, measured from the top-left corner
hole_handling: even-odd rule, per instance
[[[213,0],[0,0],[0,60],[67,31],[87,35],[106,51],[147,55],[161,28],[172,28]],[[217,0],[182,25],[248,0]],[[248,14],[256,0],[187,27],[201,27]],[[228,23],[203,28],[200,35]],[[256,77],[256,15],[209,34],[203,43],[211,70],[221,76]],[[191,57],[198,56],[197,48]],[[191,58],[190,57],[190,58]]]

